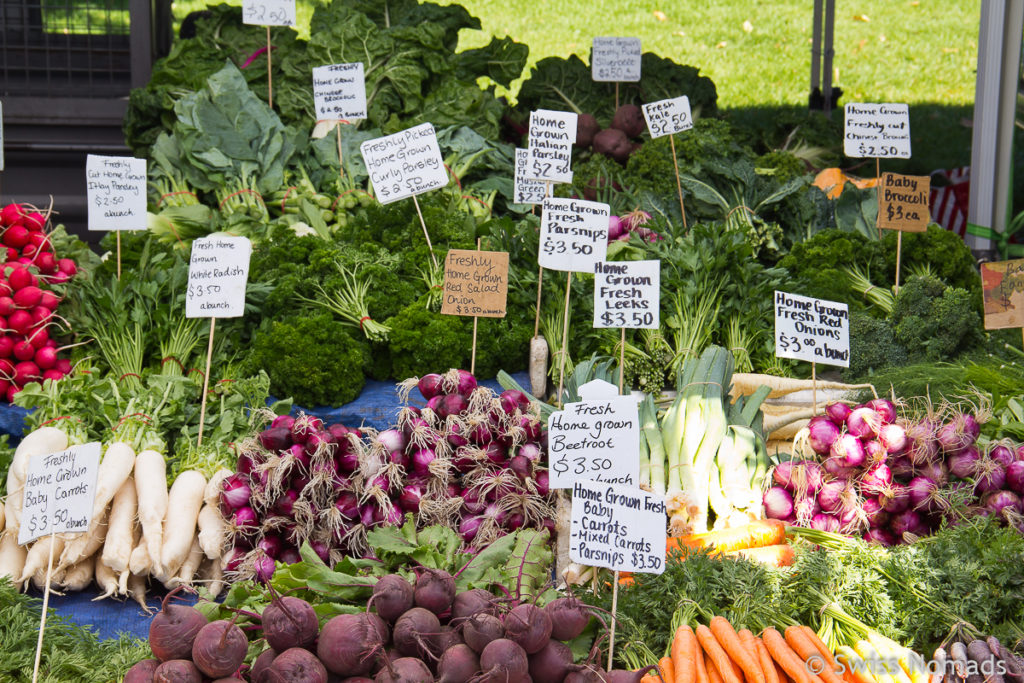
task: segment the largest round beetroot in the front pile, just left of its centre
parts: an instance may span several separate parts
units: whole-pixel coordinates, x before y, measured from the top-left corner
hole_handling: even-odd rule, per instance
[[[387,624],[377,614],[339,614],[324,625],[316,655],[333,674],[365,676],[387,641]]]

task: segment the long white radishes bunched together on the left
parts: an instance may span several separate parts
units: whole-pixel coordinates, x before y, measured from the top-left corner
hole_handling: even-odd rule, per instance
[[[168,588],[203,583],[211,594],[220,593],[226,526],[217,502],[221,480],[230,472],[220,470],[208,480],[200,471],[184,470],[168,489],[163,455],[150,449],[136,454],[124,441],[103,450],[87,531],[17,545],[29,461],[76,440],[55,427],[40,427],[18,444],[0,507],[0,577],[44,588],[52,545],[51,589],[84,590],[95,579],[97,600],[131,596],[145,609],[151,579]]]

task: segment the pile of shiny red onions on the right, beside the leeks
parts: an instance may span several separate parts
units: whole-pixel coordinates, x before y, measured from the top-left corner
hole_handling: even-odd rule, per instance
[[[981,447],[980,432],[978,418],[954,405],[906,419],[883,398],[829,403],[806,430],[816,457],[775,468],[765,512],[887,546],[978,515],[1024,531],[1024,446]]]

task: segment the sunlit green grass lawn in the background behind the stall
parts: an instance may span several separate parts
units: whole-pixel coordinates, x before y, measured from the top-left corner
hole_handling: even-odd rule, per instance
[[[299,0],[300,24],[308,25],[317,1]],[[461,48],[508,35],[529,46],[534,63],[571,53],[587,59],[594,36],[637,36],[645,51],[711,77],[719,106],[737,121],[807,104],[811,0],[460,1],[482,23],[480,32],[463,32]],[[887,162],[886,170],[928,172],[969,164],[981,0],[836,4],[834,83],[845,92],[841,103],[911,104],[913,159]],[[202,0],[173,5],[178,17],[202,6]]]

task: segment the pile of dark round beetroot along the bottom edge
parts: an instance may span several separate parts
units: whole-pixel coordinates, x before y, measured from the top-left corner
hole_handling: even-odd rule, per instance
[[[558,598],[539,607],[483,589],[457,593],[455,579],[440,569],[420,568],[415,583],[399,574],[382,577],[366,610],[333,616],[323,628],[308,602],[275,596],[250,630],[251,638],[267,645],[251,667],[245,665],[249,640],[239,626],[223,620],[208,624],[198,609],[171,597],[150,626],[155,658],[132,667],[124,683],[639,679],[633,672],[573,664],[566,642],[580,637],[591,620],[579,600]]]

